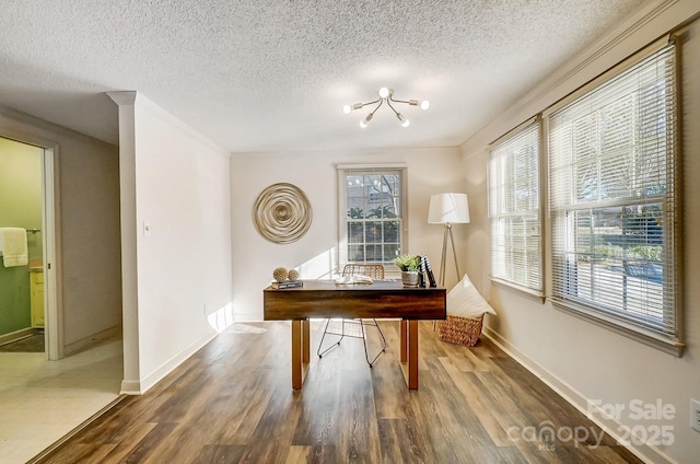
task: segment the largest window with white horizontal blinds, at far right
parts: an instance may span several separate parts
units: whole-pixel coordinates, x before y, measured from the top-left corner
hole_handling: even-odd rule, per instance
[[[549,124],[552,299],[679,353],[675,47]]]

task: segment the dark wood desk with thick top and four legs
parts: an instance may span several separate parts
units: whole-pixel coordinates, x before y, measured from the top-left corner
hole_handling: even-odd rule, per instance
[[[304,286],[264,291],[265,321],[292,321],[292,387],[301,388],[310,362],[311,317],[400,318],[400,359],[410,390],[418,390],[418,321],[446,318],[443,288],[407,288],[400,280],[336,285],[304,280]]]

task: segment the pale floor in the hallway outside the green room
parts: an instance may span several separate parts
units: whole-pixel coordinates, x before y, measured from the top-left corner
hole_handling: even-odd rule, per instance
[[[62,359],[0,352],[0,464],[24,464],[119,396],[121,340]]]

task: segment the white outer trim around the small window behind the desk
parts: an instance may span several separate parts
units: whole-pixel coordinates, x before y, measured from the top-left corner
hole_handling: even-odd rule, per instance
[[[346,176],[351,172],[368,172],[368,171],[398,171],[401,176],[401,236],[399,246],[401,253],[408,253],[408,167],[406,163],[383,163],[383,164],[337,164],[337,190],[338,190],[338,243],[336,253],[336,272],[340,272],[340,269],[348,264],[352,263],[348,260],[348,227],[347,218],[345,214],[347,206],[347,188]],[[399,268],[394,264],[387,265],[386,272],[398,272]]]

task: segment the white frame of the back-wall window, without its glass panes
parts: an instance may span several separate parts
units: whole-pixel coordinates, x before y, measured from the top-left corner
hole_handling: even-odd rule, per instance
[[[407,253],[408,250],[408,188],[407,188],[407,167],[406,164],[339,164],[336,166],[338,171],[338,269],[343,268],[348,263],[368,263],[368,264],[383,264],[388,272],[398,271],[398,268],[390,262],[393,257],[387,257],[386,260],[353,260],[348,256],[348,175],[382,175],[382,174],[398,174],[400,178],[400,188],[396,193],[399,197],[399,210],[398,220],[400,222],[399,231],[399,247],[396,255]],[[381,200],[381,198],[380,198]],[[376,196],[368,194],[368,202],[375,204]]]

